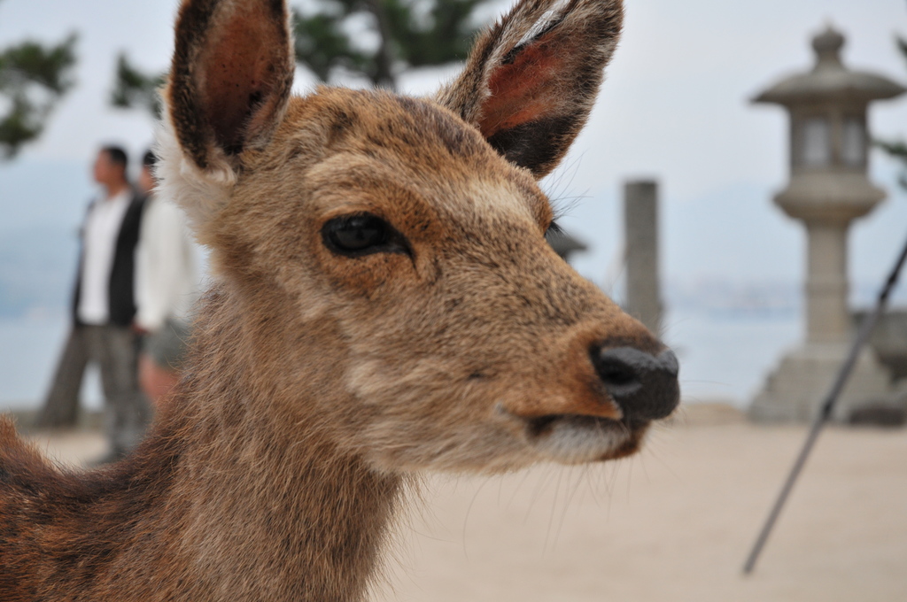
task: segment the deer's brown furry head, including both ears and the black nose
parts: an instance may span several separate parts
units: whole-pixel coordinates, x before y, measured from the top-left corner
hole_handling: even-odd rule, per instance
[[[522,0],[434,98],[298,97],[282,0],[182,5],[161,189],[212,249],[202,336],[241,323],[214,345],[249,366],[241,403],[379,471],[637,449],[677,361],[546,244],[537,183],[621,19],[620,0]]]

